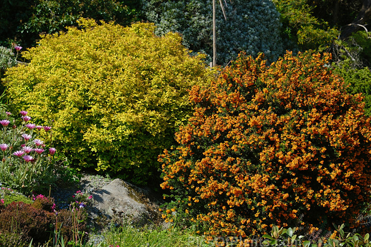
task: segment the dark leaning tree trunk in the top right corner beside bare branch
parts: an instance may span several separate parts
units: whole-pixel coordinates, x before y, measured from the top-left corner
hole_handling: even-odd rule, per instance
[[[371,16],[371,0],[363,0],[362,8],[358,13],[358,16],[351,24],[348,24],[340,34],[340,40],[345,40],[352,33],[357,32],[361,29],[365,29],[365,23],[370,19]]]

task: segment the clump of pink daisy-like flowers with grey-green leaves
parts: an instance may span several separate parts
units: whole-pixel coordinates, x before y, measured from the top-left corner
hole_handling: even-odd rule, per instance
[[[4,118],[0,121],[2,186],[26,194],[45,191],[57,179],[53,159],[56,150],[50,147],[46,153],[46,144],[39,136],[41,131],[50,131],[51,127],[30,123],[27,111],[20,111],[18,120],[13,119],[10,112],[0,114]]]

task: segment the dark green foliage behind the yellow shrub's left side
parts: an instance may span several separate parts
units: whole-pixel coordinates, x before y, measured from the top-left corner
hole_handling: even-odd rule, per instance
[[[140,20],[135,0],[0,0],[0,45],[36,44],[40,33],[52,34],[80,17],[130,25]],[[138,10],[137,10],[138,8]]]

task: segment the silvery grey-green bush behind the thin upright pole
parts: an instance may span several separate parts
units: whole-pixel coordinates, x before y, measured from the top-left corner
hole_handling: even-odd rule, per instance
[[[143,14],[157,27],[156,35],[179,32],[185,47],[212,60],[212,0],[142,0],[142,4]],[[227,0],[227,4],[226,21],[216,0],[217,64],[226,65],[242,50],[252,56],[264,52],[271,62],[283,54],[279,13],[271,0]]]

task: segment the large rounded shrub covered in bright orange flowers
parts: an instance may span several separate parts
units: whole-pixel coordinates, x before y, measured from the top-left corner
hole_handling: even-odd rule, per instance
[[[165,150],[163,189],[178,214],[210,236],[273,224],[327,228],[370,203],[371,127],[360,95],[326,68],[329,55],[287,53],[271,66],[241,53]],[[164,218],[171,217],[164,214]]]

